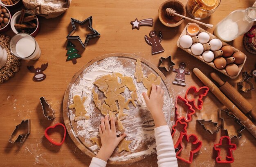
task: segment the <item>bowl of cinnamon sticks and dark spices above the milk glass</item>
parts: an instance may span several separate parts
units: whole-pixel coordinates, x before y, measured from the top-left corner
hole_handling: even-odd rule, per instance
[[[11,18],[11,29],[14,33],[28,33],[35,37],[39,32],[39,22],[36,15],[22,9]]]

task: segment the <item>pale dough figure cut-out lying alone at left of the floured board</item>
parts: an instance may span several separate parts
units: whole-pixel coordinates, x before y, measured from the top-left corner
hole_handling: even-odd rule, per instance
[[[83,103],[85,102],[86,97],[83,97],[83,99],[81,100],[81,96],[79,95],[74,95],[73,97],[73,101],[74,104],[71,104],[69,106],[69,108],[75,108],[75,121],[81,120],[81,119],[90,119],[89,115],[87,114],[87,111],[85,110],[85,107],[83,105]]]

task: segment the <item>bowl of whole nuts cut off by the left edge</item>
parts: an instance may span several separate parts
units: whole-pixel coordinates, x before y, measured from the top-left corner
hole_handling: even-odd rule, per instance
[[[0,5],[0,32],[5,32],[10,29],[10,20],[10,11],[3,5]]]

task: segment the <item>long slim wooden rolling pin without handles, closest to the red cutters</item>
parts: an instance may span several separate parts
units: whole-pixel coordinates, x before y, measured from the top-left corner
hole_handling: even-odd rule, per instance
[[[219,101],[229,109],[234,116],[236,116],[243,125],[245,125],[246,129],[256,138],[256,126],[254,123],[252,123],[251,120],[243,114],[239,110],[239,108],[234,105],[226,96],[223,94],[220,89],[209,79],[207,76],[205,76],[202,71],[200,71],[198,68],[194,68],[193,72],[195,75],[204,83],[205,86],[209,88],[209,90],[212,92],[212,94],[219,99]]]

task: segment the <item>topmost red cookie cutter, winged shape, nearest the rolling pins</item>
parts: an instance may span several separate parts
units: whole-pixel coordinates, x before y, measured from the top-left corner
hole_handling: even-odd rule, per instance
[[[199,89],[197,89],[195,86],[191,86],[186,90],[185,98],[187,101],[193,102],[193,104],[197,110],[202,110],[202,106],[203,106],[202,99],[203,99],[203,97],[205,97],[207,95],[208,91],[209,91],[209,88],[207,86],[200,87]],[[190,99],[189,95],[188,95],[190,92],[193,92],[192,99]],[[194,94],[198,94],[198,96],[199,96],[198,100],[197,100],[198,101],[197,104],[196,104],[196,99],[195,99]]]

